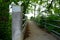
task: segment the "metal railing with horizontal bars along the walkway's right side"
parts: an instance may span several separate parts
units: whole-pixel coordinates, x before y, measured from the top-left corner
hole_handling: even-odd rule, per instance
[[[54,20],[54,21],[58,21],[58,20]],[[60,20],[59,20],[59,22],[60,22]],[[46,22],[42,22],[42,23],[45,24],[44,27],[47,28],[47,29],[48,29],[47,25],[52,26],[52,27],[56,27],[56,28],[60,28],[60,26],[56,26],[56,25],[51,24],[51,23],[46,23]],[[57,31],[55,31],[55,30],[52,29],[51,33],[53,33],[54,36],[56,36],[57,38],[60,39],[60,33],[59,32],[57,32]]]

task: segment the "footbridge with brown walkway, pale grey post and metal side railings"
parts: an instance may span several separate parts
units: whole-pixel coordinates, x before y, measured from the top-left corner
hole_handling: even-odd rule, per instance
[[[54,30],[47,32],[46,25],[43,25],[45,29],[41,29],[37,26],[36,22],[23,18],[24,14],[22,13],[21,6],[13,5],[12,9],[12,40],[59,40],[58,35],[60,35],[60,33]],[[55,26],[46,22],[43,22],[43,24]],[[54,33],[58,35],[54,36]]]

